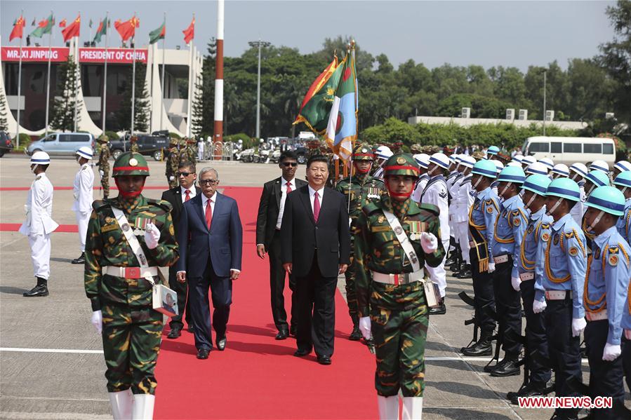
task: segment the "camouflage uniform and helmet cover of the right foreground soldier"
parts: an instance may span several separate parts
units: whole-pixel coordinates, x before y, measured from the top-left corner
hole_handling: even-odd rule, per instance
[[[398,159],[398,161],[397,161]],[[401,165],[413,170],[388,170]],[[385,163],[385,175],[418,174],[418,164],[406,154],[395,154]],[[403,172],[403,173],[401,173]],[[373,271],[385,274],[411,273],[412,264],[399,245],[383,210],[397,216],[419,259],[430,266],[441,263],[445,251],[441,243],[439,210],[431,204],[418,205],[411,198],[395,201],[385,196],[366,205],[355,223],[355,264],[357,264],[357,301],[361,317],[371,317],[375,340],[377,370],[375,387],[378,395],[422,397],[425,388],[425,340],[427,339],[428,309],[423,283],[378,283]],[[433,233],[437,250],[425,255],[420,233]],[[410,236],[410,233],[412,235]]]

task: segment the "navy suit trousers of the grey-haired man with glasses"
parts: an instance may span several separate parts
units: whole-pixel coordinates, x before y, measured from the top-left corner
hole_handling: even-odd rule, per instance
[[[208,305],[208,287],[213,299],[213,329],[219,339],[225,337],[226,325],[230,316],[232,304],[232,280],[230,276],[220,277],[215,274],[213,264],[208,257],[208,265],[201,277],[189,278],[189,296],[191,299],[191,313],[195,327],[195,347],[213,348],[211,334],[211,309]]]

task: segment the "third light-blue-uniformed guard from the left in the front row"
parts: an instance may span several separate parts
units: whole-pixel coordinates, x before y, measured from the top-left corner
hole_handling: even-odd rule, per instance
[[[550,178],[545,175],[530,175],[526,178],[522,190],[525,207],[530,215],[526,226],[526,233],[522,241],[521,252],[517,258],[517,270],[519,279],[512,278],[512,287],[519,290],[524,302],[524,312],[526,313],[526,363],[529,367],[529,377],[524,381],[524,385],[516,393],[510,392],[507,398],[517,404],[519,397],[533,397],[543,395],[543,391],[550,381],[550,367],[540,363],[539,358],[533,357],[533,353],[547,355],[547,338],[545,337],[545,325],[543,313],[533,312],[533,301],[535,299],[535,264],[538,255],[538,248],[547,245],[541,235],[547,226],[550,236],[550,224],[552,217],[545,214],[545,191],[550,184]]]

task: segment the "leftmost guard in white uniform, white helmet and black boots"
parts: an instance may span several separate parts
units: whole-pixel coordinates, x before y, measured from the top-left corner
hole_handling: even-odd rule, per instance
[[[26,200],[26,219],[20,233],[29,238],[31,260],[37,285],[24,297],[48,296],[48,277],[51,276],[51,233],[58,228],[53,220],[53,184],[46,177],[51,158],[45,151],[36,151],[31,156],[31,171],[35,180],[31,184]]]

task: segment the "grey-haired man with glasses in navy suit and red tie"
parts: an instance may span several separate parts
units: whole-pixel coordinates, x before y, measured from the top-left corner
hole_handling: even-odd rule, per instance
[[[232,304],[232,280],[241,273],[243,228],[237,201],[217,192],[219,175],[213,168],[199,172],[201,193],[184,203],[178,224],[178,281],[189,282],[197,358],[213,348],[208,287],[211,289],[213,328],[219,350],[226,345],[226,325]]]

